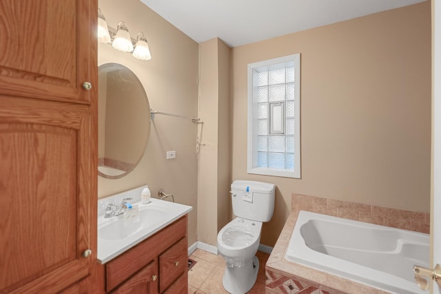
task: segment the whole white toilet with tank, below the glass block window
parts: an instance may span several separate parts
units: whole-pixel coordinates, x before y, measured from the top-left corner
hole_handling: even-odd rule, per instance
[[[231,185],[236,218],[220,229],[217,239],[218,252],[227,262],[222,283],[229,293],[247,293],[256,282],[260,230],[273,216],[275,188],[251,180],[235,180]]]

